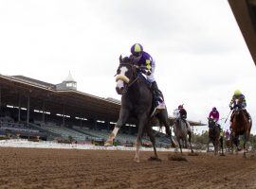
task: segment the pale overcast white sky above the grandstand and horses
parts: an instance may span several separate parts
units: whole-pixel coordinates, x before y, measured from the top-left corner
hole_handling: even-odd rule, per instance
[[[227,129],[239,89],[256,120],[256,67],[226,0],[0,1],[1,75],[57,84],[70,71],[79,91],[120,99],[114,75],[134,43],[155,60],[169,114],[184,104],[207,123],[214,106]]]

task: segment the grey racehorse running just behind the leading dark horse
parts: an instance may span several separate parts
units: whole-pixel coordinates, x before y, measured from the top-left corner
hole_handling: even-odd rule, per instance
[[[189,129],[189,126],[188,127],[186,126],[185,121],[182,120],[181,118],[174,119],[174,134],[176,136],[176,140],[178,142],[178,146],[180,148],[181,153],[182,153],[182,146],[185,148],[188,148],[188,135],[189,135],[190,147],[192,150],[192,130]],[[193,150],[192,150],[192,153],[193,153]]]

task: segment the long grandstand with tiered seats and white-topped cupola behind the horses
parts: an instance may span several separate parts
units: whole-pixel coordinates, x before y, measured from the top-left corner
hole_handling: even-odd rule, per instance
[[[77,91],[77,82],[70,73],[57,85],[30,77],[0,75],[0,134],[104,141],[119,118],[119,109],[119,100]],[[173,121],[173,117],[169,118]],[[131,144],[136,134],[135,121],[128,120],[116,141]],[[170,141],[164,134],[155,134],[157,146],[168,146]],[[144,137],[143,141],[149,139]]]

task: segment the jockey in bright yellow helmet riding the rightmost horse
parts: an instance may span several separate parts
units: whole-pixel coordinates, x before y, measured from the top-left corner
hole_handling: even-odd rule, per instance
[[[232,99],[229,103],[229,108],[230,110],[233,110],[234,108],[236,107],[239,107],[239,108],[242,108],[245,112],[246,112],[246,116],[247,116],[247,119],[250,120],[250,115],[249,113],[247,112],[247,101],[246,101],[246,97],[244,94],[242,94],[240,92],[240,90],[235,90],[233,96],[232,96]],[[232,122],[233,120],[233,114],[231,115],[230,117],[230,122]]]

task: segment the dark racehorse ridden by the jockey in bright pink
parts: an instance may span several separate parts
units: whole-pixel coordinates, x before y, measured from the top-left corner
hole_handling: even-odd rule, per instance
[[[209,151],[210,142],[214,146],[214,155],[218,154],[219,151],[219,139],[220,139],[220,128],[212,118],[208,118],[209,125],[209,140],[207,145],[207,151]]]

